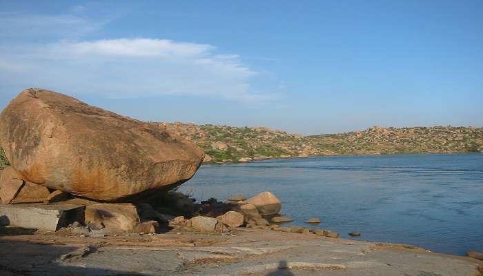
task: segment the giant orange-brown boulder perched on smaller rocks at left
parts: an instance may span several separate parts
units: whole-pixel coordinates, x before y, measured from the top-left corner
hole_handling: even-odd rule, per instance
[[[0,146],[21,179],[106,201],[175,188],[204,157],[166,128],[42,89],[1,112]]]

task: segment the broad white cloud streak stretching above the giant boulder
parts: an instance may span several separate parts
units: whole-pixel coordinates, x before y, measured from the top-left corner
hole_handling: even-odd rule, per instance
[[[235,101],[273,98],[237,55],[166,39],[61,41],[0,49],[0,81],[108,97],[198,95]],[[21,66],[19,66],[21,64]]]

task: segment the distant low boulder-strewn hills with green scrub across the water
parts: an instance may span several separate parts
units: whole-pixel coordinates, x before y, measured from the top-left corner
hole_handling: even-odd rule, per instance
[[[319,155],[483,152],[483,128],[382,128],[303,137],[269,128],[153,123],[195,142],[206,161],[238,162]]]

